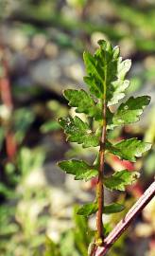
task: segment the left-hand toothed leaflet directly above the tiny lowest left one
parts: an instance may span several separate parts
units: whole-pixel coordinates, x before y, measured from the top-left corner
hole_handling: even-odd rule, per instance
[[[75,179],[85,179],[87,181],[98,174],[95,168],[82,160],[64,160],[59,162],[58,165],[66,174],[75,175]]]

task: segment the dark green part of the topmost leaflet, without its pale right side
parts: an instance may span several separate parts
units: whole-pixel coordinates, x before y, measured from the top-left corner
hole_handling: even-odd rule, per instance
[[[106,41],[98,42],[100,48],[96,50],[95,55],[84,52],[83,59],[86,66],[87,77],[84,81],[90,87],[90,91],[97,98],[102,99],[105,83],[111,83],[115,80],[117,68],[117,56],[114,57],[112,45]]]

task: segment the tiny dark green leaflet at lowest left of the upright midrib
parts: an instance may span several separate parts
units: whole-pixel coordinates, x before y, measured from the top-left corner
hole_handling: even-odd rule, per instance
[[[80,207],[77,211],[78,215],[90,216],[97,211],[98,207],[96,203],[89,203]]]

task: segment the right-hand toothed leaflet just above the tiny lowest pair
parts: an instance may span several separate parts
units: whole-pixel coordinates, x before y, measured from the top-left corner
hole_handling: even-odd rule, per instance
[[[112,174],[110,177],[104,178],[104,185],[110,190],[125,191],[127,185],[133,184],[134,181],[140,176],[137,172],[129,172],[123,170]]]

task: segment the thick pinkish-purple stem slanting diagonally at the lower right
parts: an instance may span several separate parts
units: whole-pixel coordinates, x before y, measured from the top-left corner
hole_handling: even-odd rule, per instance
[[[95,250],[95,256],[104,256],[121,236],[121,234],[128,229],[130,222],[136,217],[149,203],[149,201],[155,196],[155,181],[148,187],[146,192],[138,199],[138,201],[129,210],[126,216],[116,225],[112,232],[104,240],[104,246],[98,247]]]

